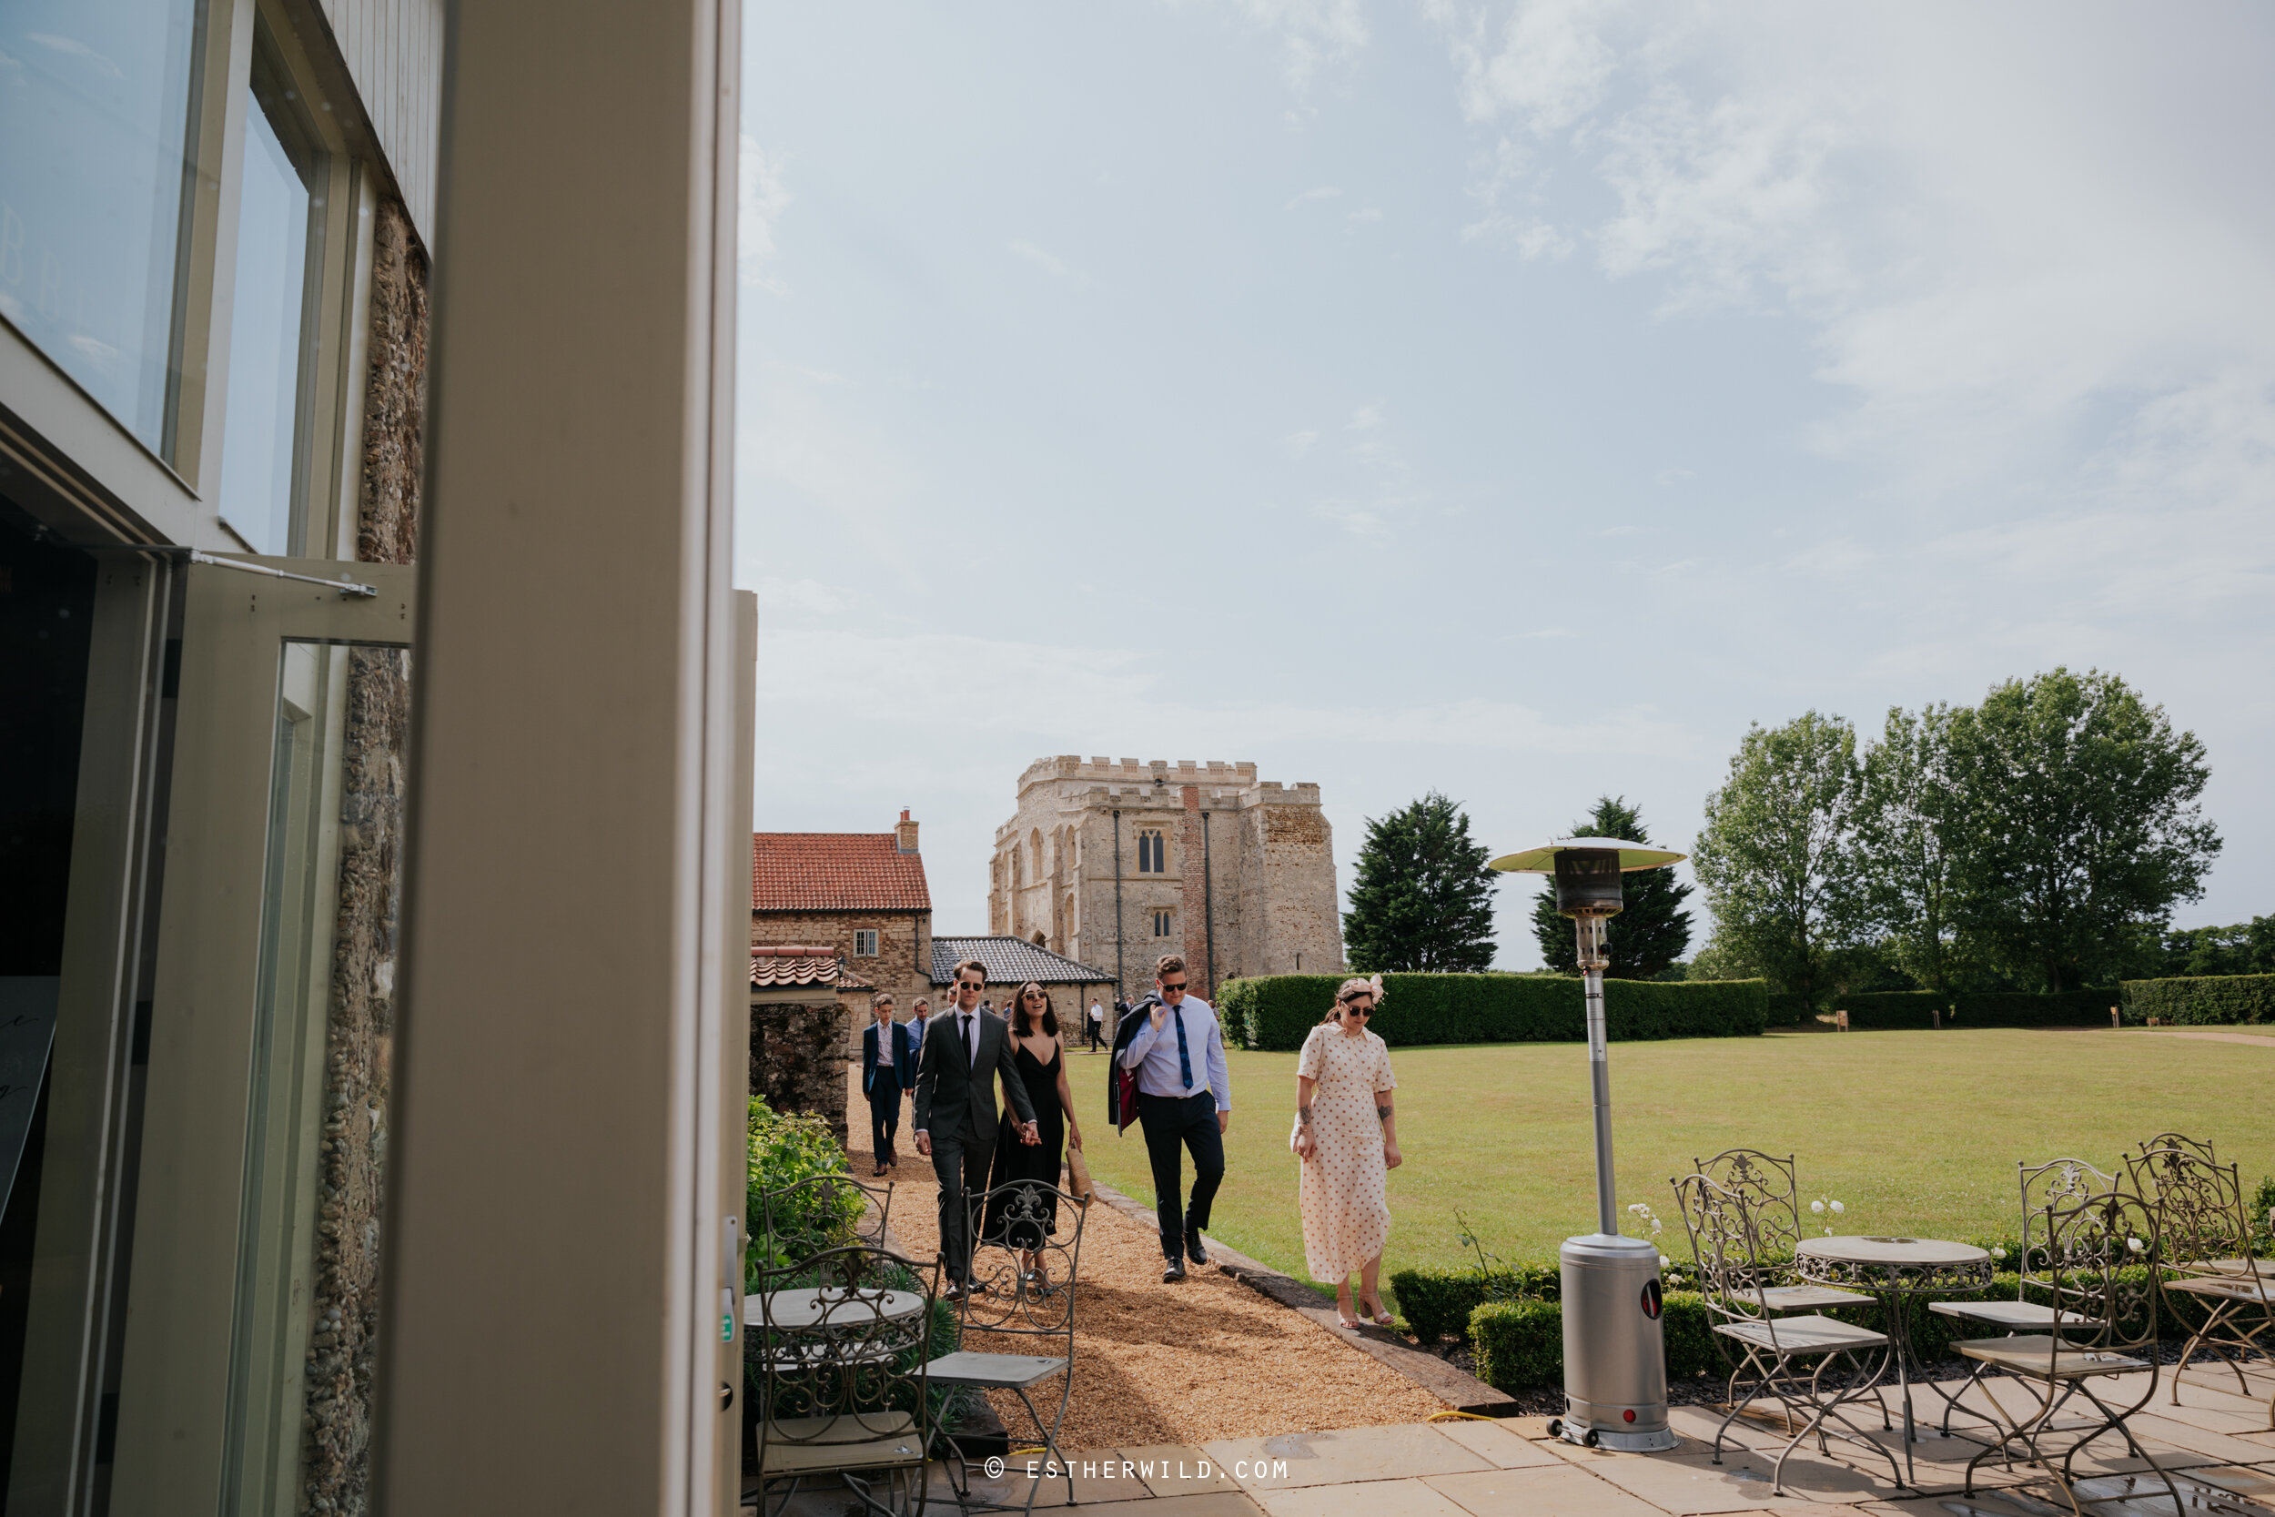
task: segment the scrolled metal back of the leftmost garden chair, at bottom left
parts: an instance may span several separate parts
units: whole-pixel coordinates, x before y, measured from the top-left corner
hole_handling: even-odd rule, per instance
[[[937,1260],[917,1265],[851,1244],[762,1269],[760,1287],[744,1324],[744,1360],[760,1385],[762,1444],[858,1444],[910,1433],[924,1449]]]

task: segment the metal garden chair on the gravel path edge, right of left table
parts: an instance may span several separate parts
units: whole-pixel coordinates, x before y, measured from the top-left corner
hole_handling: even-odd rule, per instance
[[[1072,1196],[1044,1180],[1010,1180],[971,1205],[971,1276],[978,1287],[962,1292],[958,1351],[926,1365],[933,1385],[971,1390],[1008,1390],[1035,1424],[1035,1437],[1051,1458],[1051,1472],[1065,1474],[1067,1501],[1074,1501],[1074,1467],[1058,1446],[1074,1394],[1074,1283],[1083,1262],[1083,1224],[1090,1219],[1090,1196]],[[978,1344],[976,1344],[978,1340]],[[1046,1353],[1008,1353],[1017,1346]],[[1028,1394],[1058,1376],[1058,1408],[1044,1419]],[[1017,1437],[1012,1437],[1017,1446]],[[965,1510],[1015,1510],[1008,1503],[981,1501],[971,1492],[969,1460],[960,1449],[949,1453],[956,1501]],[[1012,1460],[1010,1469],[1019,1469]],[[1042,1478],[1028,1481],[1026,1503],[1035,1510]]]

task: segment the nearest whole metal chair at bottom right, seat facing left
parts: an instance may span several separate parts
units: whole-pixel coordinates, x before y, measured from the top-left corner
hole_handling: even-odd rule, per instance
[[[2050,1196],[2038,1210],[2034,1233],[2043,1240],[2038,1246],[2045,1292],[2061,1319],[2048,1324],[2045,1333],[1952,1344],[1961,1356],[2002,1369],[2038,1401],[2025,1417],[2009,1415],[1997,1401],[1988,1403],[1995,1408],[1991,1424],[1997,1442],[1968,1460],[1970,1497],[1975,1469],[1984,1460],[1997,1456],[2011,1469],[2020,1449],[2061,1487],[2070,1510],[2084,1517],[2073,1465],[2086,1444],[2113,1431],[2134,1458],[2157,1472],[2173,1497],[2173,1508],[2182,1510],[2173,1476],[2125,1426],[2157,1394],[2157,1283],[2143,1265],[2157,1260],[2159,1212],[2161,1208],[2118,1185],[2091,1194]],[[2111,1406],[2095,1390],[2095,1381],[2141,1371],[2148,1371],[2148,1378],[2129,1406]],[[2054,1412],[2070,1396],[2084,1396],[2102,1419],[2077,1433],[2068,1449],[2052,1449],[2052,1437],[2070,1437],[2070,1431],[2052,1426]]]

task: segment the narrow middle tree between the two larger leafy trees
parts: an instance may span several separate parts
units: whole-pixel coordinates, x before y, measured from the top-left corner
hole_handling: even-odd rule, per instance
[[[1959,878],[1968,832],[1966,785],[1952,766],[1952,728],[1972,712],[1888,707],[1863,755],[1856,869],[1863,907],[1888,935],[1895,967],[1925,989],[1950,992],[1963,960]],[[1850,987],[1854,989],[1854,985]]]

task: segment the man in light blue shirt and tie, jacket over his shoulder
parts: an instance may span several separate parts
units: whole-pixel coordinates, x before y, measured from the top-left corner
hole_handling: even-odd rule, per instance
[[[1163,1285],[1185,1278],[1185,1255],[1206,1265],[1201,1228],[1224,1185],[1224,1130],[1233,1124],[1233,1078],[1224,1067],[1217,1012],[1185,994],[1185,960],[1163,953],[1153,964],[1160,998],[1138,1010],[1147,1023],[1122,1051],[1122,1067],[1138,1071],[1138,1126],[1153,1162],[1153,1212],[1160,1219]],[[1192,1205],[1178,1205],[1185,1155],[1192,1151]]]

